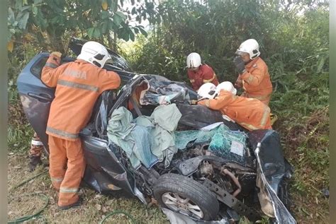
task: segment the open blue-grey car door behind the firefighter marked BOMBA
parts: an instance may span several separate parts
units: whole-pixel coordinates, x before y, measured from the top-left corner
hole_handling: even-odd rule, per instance
[[[21,71],[17,81],[18,93],[28,122],[36,131],[47,150],[47,134],[45,134],[45,129],[47,127],[50,105],[55,97],[55,88],[45,86],[40,76],[48,57],[48,53],[36,55]],[[63,63],[72,60],[66,57],[63,59]]]

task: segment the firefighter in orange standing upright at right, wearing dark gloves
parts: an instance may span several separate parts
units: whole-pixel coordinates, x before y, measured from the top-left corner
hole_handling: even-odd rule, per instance
[[[271,99],[271,78],[265,62],[259,57],[259,45],[254,39],[245,40],[235,52],[235,67],[239,73],[235,86],[245,90],[241,96],[255,98],[265,105]]]

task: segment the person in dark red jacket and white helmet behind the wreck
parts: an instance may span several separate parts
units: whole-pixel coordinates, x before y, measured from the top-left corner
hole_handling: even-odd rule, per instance
[[[213,83],[218,85],[218,79],[211,66],[201,64],[201,56],[196,52],[192,52],[186,58],[186,66],[188,67],[188,78],[194,90],[198,90],[204,83]]]

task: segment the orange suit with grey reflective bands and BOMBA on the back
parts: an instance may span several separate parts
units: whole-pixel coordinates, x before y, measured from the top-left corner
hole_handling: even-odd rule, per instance
[[[79,131],[89,121],[99,95],[118,88],[121,79],[117,73],[82,59],[59,65],[60,57],[50,54],[41,79],[45,85],[56,87],[46,131],[49,173],[53,187],[60,191],[58,206],[68,206],[79,199],[77,191],[85,170]]]

